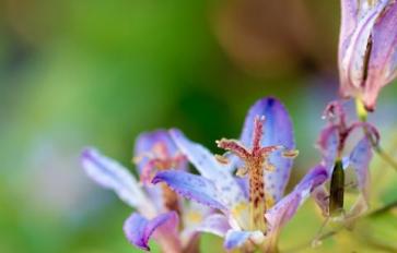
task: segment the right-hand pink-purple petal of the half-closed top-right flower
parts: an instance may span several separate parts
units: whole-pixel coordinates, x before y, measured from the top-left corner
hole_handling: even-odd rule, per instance
[[[363,101],[373,110],[380,89],[397,75],[397,2],[377,19],[372,32],[372,50]]]

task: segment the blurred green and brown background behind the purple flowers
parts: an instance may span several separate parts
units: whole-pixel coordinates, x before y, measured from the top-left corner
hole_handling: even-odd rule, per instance
[[[133,171],[136,136],[178,126],[215,150],[262,96],[293,118],[293,185],[319,159],[338,29],[336,0],[0,1],[0,252],[139,252],[121,230],[131,209],[85,177],[81,149],[97,146]],[[396,95],[387,86],[371,117],[394,155]],[[376,158],[371,170],[376,209],[397,200],[397,173]],[[281,250],[397,251],[393,209],[316,250],[318,214],[308,201]],[[206,236],[201,246],[221,252],[220,243]]]

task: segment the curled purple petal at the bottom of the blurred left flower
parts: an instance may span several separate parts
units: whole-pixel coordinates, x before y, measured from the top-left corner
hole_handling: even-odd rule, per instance
[[[130,243],[150,251],[149,240],[152,234],[161,244],[164,252],[180,250],[177,241],[178,216],[175,212],[161,214],[149,220],[138,213],[133,213],[124,224],[124,232]],[[173,251],[165,251],[165,249]]]

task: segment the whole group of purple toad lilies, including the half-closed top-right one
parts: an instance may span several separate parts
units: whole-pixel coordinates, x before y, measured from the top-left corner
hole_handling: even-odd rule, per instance
[[[397,75],[397,1],[342,0],[341,8],[340,91],[372,111],[381,88]],[[217,141],[222,156],[171,129],[138,137],[133,161],[140,180],[94,148],[82,153],[82,165],[135,209],[124,231],[142,250],[150,250],[153,238],[163,252],[198,252],[198,238],[208,232],[222,237],[225,250],[276,252],[282,227],[311,196],[332,220],[355,219],[369,207],[369,166],[380,134],[362,119],[349,122],[341,101],[330,103],[324,116],[322,160],[288,193],[297,150],[290,116],[272,97],[252,106],[238,138]],[[354,132],[359,138],[351,137]],[[345,212],[347,169],[354,171],[352,186],[360,194]]]

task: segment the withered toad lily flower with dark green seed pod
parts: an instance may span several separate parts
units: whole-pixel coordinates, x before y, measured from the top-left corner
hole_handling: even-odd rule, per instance
[[[328,125],[322,131],[318,146],[323,154],[323,164],[328,170],[330,180],[330,193],[323,188],[318,188],[313,193],[317,204],[323,209],[326,217],[334,216],[343,220],[353,219],[367,209],[369,204],[369,165],[372,158],[372,146],[367,134],[378,142],[377,130],[366,122],[347,123],[346,112],[339,101],[328,105],[325,111]],[[354,130],[364,130],[367,134],[359,141],[347,157],[342,157],[349,136]],[[357,176],[357,184],[360,197],[352,208],[345,214],[343,192],[345,192],[345,169],[353,168]]]

